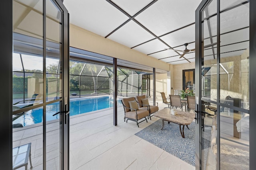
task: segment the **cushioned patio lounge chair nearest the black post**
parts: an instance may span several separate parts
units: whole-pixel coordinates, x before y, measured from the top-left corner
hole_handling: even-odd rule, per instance
[[[121,102],[124,107],[124,121],[125,119],[127,119],[126,123],[128,120],[136,121],[139,127],[139,123],[145,120],[147,121],[146,117],[149,115],[148,109],[139,109],[138,103],[136,102],[134,97],[123,98]],[[138,122],[138,120],[142,118],[145,118],[145,120]]]

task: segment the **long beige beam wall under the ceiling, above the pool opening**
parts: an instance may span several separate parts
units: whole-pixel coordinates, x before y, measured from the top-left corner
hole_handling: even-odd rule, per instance
[[[170,64],[70,24],[70,46],[169,71]]]

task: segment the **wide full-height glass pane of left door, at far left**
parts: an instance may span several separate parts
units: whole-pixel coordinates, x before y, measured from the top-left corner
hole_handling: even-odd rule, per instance
[[[13,168],[43,169],[43,0],[13,0]],[[23,150],[23,149],[25,150]],[[21,149],[23,150],[22,152]],[[15,151],[16,150],[16,151]],[[29,160],[29,159],[28,159]]]

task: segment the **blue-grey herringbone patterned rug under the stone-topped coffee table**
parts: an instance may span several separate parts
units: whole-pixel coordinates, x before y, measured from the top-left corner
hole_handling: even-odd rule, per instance
[[[189,129],[184,127],[185,138],[182,138],[178,124],[165,121],[163,130],[161,127],[162,120],[158,119],[135,135],[195,166],[195,123],[188,125]],[[208,133],[207,129],[210,128],[205,128],[205,133]],[[210,147],[209,139],[203,141],[203,149]]]

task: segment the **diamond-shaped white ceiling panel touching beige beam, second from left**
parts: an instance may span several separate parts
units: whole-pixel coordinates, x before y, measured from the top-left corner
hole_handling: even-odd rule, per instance
[[[131,48],[135,45],[153,39],[154,36],[140,27],[140,25],[136,24],[134,21],[129,21],[120,29],[111,34],[108,38]]]

